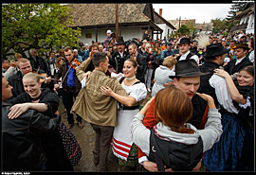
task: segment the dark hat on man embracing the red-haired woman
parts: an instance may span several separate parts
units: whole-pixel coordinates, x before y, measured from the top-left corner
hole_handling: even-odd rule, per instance
[[[169,76],[170,79],[175,77],[192,78],[198,76],[204,76],[209,73],[200,72],[199,66],[193,59],[185,61],[177,61],[175,64],[175,76]]]

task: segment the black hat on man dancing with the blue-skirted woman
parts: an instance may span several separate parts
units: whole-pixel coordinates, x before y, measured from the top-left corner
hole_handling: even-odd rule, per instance
[[[229,52],[229,49],[225,48],[222,44],[210,44],[207,45],[207,50],[204,53],[205,57],[215,57],[223,55]]]

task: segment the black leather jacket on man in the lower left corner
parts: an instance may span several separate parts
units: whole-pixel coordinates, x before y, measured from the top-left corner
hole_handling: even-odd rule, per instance
[[[11,120],[8,117],[9,108],[9,103],[2,101],[2,170],[42,170],[46,155],[39,135],[54,131],[60,123],[60,118],[50,118],[34,110],[27,110]]]

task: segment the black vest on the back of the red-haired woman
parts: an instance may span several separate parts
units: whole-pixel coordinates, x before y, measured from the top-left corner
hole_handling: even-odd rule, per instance
[[[153,129],[150,135],[150,154],[148,159],[155,162],[153,149],[156,150],[163,162],[163,166],[166,166],[166,168],[171,167],[174,171],[191,171],[202,158],[203,142],[201,136],[199,136],[198,142],[192,145],[174,142],[173,140],[163,140],[155,135]]]

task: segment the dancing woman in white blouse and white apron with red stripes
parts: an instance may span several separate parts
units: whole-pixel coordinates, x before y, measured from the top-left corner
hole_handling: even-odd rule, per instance
[[[113,133],[112,150],[114,155],[119,158],[119,166],[130,166],[133,170],[137,165],[137,147],[133,143],[130,128],[135,114],[139,111],[139,101],[147,96],[147,89],[144,83],[136,79],[137,61],[127,59],[124,61],[122,71],[123,74],[119,73],[116,78],[130,96],[129,106],[120,104],[122,96],[115,94],[110,88],[102,87],[101,91],[104,95],[113,96],[120,102],[118,124]]]

